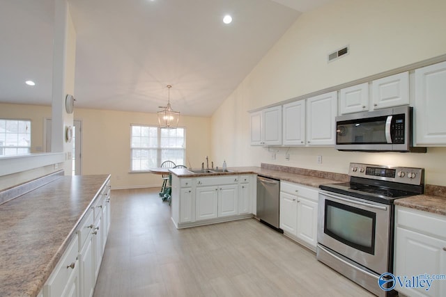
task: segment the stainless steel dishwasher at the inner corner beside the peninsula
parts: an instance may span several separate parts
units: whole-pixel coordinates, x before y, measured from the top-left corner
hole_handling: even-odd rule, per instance
[[[279,229],[280,181],[257,176],[257,218],[277,231]]]

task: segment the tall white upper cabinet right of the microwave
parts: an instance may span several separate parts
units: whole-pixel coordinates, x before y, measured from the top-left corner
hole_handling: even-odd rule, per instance
[[[446,62],[415,70],[415,144],[446,145]]]

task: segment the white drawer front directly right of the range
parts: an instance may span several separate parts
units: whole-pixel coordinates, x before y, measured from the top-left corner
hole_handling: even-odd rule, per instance
[[[446,239],[446,217],[397,206],[397,226]]]

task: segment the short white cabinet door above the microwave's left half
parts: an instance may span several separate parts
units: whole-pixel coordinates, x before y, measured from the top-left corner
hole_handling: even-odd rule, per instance
[[[369,83],[361,83],[339,92],[339,114],[369,110]]]

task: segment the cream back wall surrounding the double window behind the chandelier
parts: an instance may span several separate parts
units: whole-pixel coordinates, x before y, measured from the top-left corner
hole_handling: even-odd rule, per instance
[[[156,126],[156,114],[75,108],[75,120],[82,121],[82,175],[110,173],[113,188],[161,186],[160,175],[129,172],[130,124]],[[178,127],[186,128],[186,164],[181,165],[199,168],[210,156],[210,118],[181,115]]]

